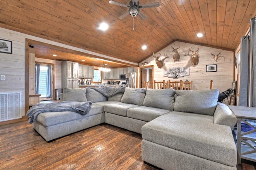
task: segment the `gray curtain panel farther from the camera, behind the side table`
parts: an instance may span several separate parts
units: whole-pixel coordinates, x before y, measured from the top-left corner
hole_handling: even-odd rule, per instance
[[[249,61],[249,36],[241,37],[241,73],[239,87],[239,106],[247,106],[248,102],[248,61]]]

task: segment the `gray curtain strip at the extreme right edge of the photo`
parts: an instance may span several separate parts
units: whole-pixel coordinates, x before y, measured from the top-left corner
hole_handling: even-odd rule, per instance
[[[252,64],[251,64],[251,82],[250,82],[250,105],[256,107],[256,17],[250,21],[250,37],[251,37],[251,51],[252,51]]]

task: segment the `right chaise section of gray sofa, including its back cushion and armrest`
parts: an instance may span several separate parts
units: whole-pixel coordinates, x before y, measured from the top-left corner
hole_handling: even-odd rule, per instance
[[[176,95],[174,111],[142,127],[142,160],[170,170],[235,170],[237,119],[217,103],[218,90],[178,90]]]

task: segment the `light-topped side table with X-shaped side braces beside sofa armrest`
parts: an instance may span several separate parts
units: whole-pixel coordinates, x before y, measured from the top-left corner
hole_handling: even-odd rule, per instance
[[[238,119],[237,130],[237,163],[241,164],[241,158],[256,162],[256,127],[251,123],[251,120],[256,120],[256,107],[245,106],[228,106]],[[252,130],[243,132],[241,131],[241,123],[244,122]],[[243,143],[241,145],[241,143]],[[244,145],[246,144],[246,145]]]

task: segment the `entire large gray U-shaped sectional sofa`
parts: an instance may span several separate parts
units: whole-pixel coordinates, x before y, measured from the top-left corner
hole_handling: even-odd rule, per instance
[[[66,88],[61,99],[91,101],[89,113],[40,113],[33,127],[52,141],[108,123],[142,134],[142,160],[159,168],[236,170],[232,129],[237,119],[228,106],[217,102],[218,94],[217,89],[124,88],[105,95],[94,88]]]

